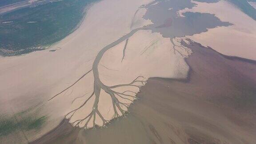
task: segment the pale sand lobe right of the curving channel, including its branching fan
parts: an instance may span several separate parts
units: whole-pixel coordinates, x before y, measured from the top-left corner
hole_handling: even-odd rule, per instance
[[[104,47],[98,53],[92,67],[93,85],[91,83],[90,87],[87,86],[88,89],[77,90],[77,87],[80,87],[78,82],[72,87],[70,96],[80,96],[72,105],[75,111],[71,111],[66,116],[70,118],[73,126],[81,128],[92,128],[94,124],[104,126],[109,120],[123,115],[120,108],[116,111],[115,106],[113,107],[113,98],[117,98],[119,103],[124,103],[120,107],[127,111],[132,100],[136,98],[122,93],[129,91],[129,95],[135,96],[139,87],[144,85],[149,77],[185,78],[187,76],[188,66],[184,62],[184,56],[173,52],[171,40],[163,38],[158,33],[152,34],[146,29],[132,30],[132,32]],[[93,81],[92,75],[86,75],[88,76],[90,78],[84,79]],[[135,83],[129,84],[134,80]],[[119,84],[121,85],[118,86]],[[111,89],[111,86],[114,88]],[[87,90],[84,92],[85,89]],[[119,92],[119,95],[116,92]],[[65,96],[65,93],[61,93],[60,97],[62,96]],[[88,103],[84,104],[86,101]],[[94,110],[97,114],[92,113]],[[92,116],[96,117],[92,118]]]

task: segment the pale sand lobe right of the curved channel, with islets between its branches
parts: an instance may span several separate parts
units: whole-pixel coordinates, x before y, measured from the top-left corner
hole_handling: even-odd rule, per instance
[[[173,53],[172,43],[169,38],[163,38],[158,33],[152,34],[150,30],[138,31],[128,39],[124,60],[122,61],[124,45],[125,41],[111,48],[101,59],[99,72],[100,80],[103,84],[108,86],[128,84],[137,76],[144,76],[144,80],[149,77],[186,78],[188,66],[183,56]],[[139,83],[136,84],[140,85]],[[117,92],[127,90],[137,93],[139,88],[125,86],[116,89]],[[98,104],[99,111],[106,120],[111,120],[114,117],[111,97],[106,92],[101,92]],[[73,109],[81,105],[91,93],[84,96],[84,99],[76,100],[76,103],[73,104]],[[76,95],[74,91],[72,95]],[[94,99],[91,101],[94,101]],[[129,100],[123,100],[122,102],[131,103]],[[87,116],[91,109],[92,104],[85,106],[79,112],[76,112],[70,122]],[[96,118],[96,123],[101,125],[102,120],[98,117]],[[82,126],[83,124],[80,125],[80,127]],[[89,124],[89,127],[92,127],[92,123]]]

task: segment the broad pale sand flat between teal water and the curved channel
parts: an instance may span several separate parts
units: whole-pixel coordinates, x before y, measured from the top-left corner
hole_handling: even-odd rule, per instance
[[[66,105],[71,105],[74,98],[90,89],[88,80],[90,77],[92,80],[92,75],[81,81],[75,90],[65,92],[60,99],[48,103],[47,100],[88,72],[101,48],[130,32],[136,11],[142,4],[149,2],[151,0],[100,1],[89,8],[83,23],[75,32],[49,49],[58,51],[0,57],[0,113],[16,113],[39,103],[46,104],[42,113],[49,116],[50,123],[38,136],[54,128],[68,111],[76,107],[76,104],[72,107]],[[122,13],[116,15],[120,11]],[[150,24],[138,22],[138,19],[136,17],[136,27]]]

